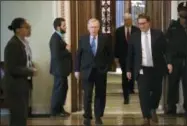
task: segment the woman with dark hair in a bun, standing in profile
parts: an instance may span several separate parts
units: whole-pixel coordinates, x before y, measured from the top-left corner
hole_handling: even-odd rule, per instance
[[[29,82],[36,72],[31,60],[31,49],[26,40],[26,37],[31,35],[31,26],[24,18],[15,18],[8,29],[14,32],[4,52],[10,126],[26,126]]]

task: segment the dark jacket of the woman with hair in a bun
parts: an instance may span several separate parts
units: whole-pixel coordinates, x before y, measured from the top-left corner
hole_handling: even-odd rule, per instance
[[[24,44],[13,36],[5,47],[4,52],[5,65],[5,86],[8,92],[28,92],[28,76],[33,72],[27,68],[27,55]]]

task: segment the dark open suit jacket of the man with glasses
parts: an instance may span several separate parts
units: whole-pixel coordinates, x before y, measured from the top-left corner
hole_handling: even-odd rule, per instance
[[[153,64],[159,74],[167,72],[166,61],[170,62],[170,57],[166,52],[166,39],[160,30],[151,29],[151,47]],[[167,59],[167,60],[166,60]],[[134,64],[133,61],[134,60]],[[139,75],[142,67],[142,48],[141,48],[141,32],[133,34],[129,41],[127,71],[131,72],[131,67],[134,65],[135,77]]]

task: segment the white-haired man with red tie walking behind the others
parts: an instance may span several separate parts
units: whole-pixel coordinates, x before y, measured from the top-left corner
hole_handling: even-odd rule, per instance
[[[132,25],[131,14],[125,13],[124,15],[124,26],[117,28],[116,30],[116,43],[115,43],[115,62],[117,67],[121,67],[122,70],[122,89],[124,104],[129,104],[129,93],[134,93],[135,80],[128,81],[126,76],[126,58],[128,50],[128,41],[130,35],[139,29]],[[132,69],[133,71],[133,69]]]

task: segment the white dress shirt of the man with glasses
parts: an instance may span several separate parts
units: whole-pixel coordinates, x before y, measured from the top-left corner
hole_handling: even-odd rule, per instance
[[[147,42],[146,42],[146,35],[148,37]],[[142,66],[153,67],[150,29],[146,33],[141,32],[141,46],[142,46]]]

